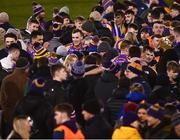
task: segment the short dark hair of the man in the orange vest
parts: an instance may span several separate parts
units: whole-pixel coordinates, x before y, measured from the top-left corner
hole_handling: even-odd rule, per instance
[[[68,117],[70,118],[71,113],[73,112],[73,106],[68,103],[58,104],[54,107],[54,111],[65,112],[65,113],[67,113]]]

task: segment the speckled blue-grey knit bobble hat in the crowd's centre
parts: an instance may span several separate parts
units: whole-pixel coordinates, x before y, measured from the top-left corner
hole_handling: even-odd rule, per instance
[[[76,61],[72,65],[71,73],[72,73],[72,75],[77,76],[77,77],[83,76],[85,73],[85,66],[84,66],[83,62],[79,61],[79,60]]]

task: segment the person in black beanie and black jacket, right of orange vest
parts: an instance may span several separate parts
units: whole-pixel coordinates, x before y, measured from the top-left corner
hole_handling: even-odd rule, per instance
[[[82,114],[86,121],[84,135],[86,139],[109,139],[112,135],[110,124],[100,115],[101,106],[96,99],[83,104]]]

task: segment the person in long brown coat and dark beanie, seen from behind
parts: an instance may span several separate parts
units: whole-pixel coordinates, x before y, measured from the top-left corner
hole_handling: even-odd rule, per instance
[[[26,58],[19,58],[15,70],[8,75],[1,84],[0,103],[3,110],[3,136],[9,134],[15,105],[24,96],[25,86],[28,81],[27,71],[29,62]],[[7,88],[8,87],[8,88]],[[13,94],[12,94],[13,93]]]

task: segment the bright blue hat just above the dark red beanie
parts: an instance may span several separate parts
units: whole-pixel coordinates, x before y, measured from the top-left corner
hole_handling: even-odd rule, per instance
[[[139,104],[141,101],[146,99],[146,96],[141,92],[130,92],[126,96],[126,98],[128,101],[135,102],[135,103]]]

